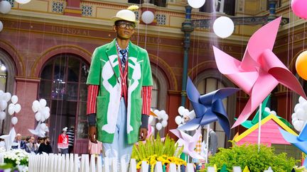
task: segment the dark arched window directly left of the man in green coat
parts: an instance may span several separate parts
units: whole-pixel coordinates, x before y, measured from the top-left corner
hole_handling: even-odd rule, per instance
[[[87,74],[89,64],[75,55],[57,55],[41,71],[39,98],[45,98],[50,107],[50,138],[57,150],[58,135],[63,127],[75,127],[75,153],[85,153],[86,147],[77,147],[87,139]],[[83,142],[86,142],[84,141]],[[85,149],[85,150],[83,150]]]

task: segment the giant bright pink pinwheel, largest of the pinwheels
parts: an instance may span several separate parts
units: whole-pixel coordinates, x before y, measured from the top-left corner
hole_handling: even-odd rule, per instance
[[[280,21],[276,18],[252,35],[242,62],[213,46],[219,71],[250,96],[232,127],[247,120],[279,83],[306,98],[296,77],[272,52]]]

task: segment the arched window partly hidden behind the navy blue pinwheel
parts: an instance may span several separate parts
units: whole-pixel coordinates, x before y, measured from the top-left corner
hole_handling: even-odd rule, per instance
[[[205,93],[210,93],[219,88],[233,87],[233,84],[222,76],[218,71],[210,70],[205,71],[202,74],[198,75],[194,81],[195,86],[198,88],[198,91],[201,95]],[[231,100],[230,100],[231,99]],[[235,96],[223,99],[223,104],[225,110],[227,111],[228,118],[233,122],[235,117]],[[217,134],[218,145],[217,147],[227,147],[227,138],[224,130],[218,122],[213,122],[210,124],[212,130]],[[206,131],[204,130],[203,138],[207,137]]]

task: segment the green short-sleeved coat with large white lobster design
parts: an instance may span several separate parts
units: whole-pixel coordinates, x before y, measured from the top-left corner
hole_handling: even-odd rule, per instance
[[[116,39],[96,48],[87,76],[87,84],[99,86],[96,105],[97,139],[105,143],[113,142],[122,93],[120,64],[115,43]],[[133,144],[139,140],[142,86],[152,86],[153,82],[148,53],[132,42],[129,42],[127,77],[127,134],[128,144]]]

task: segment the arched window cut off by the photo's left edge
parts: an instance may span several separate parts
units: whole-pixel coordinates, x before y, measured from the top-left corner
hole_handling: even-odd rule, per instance
[[[0,89],[14,94],[16,66],[11,56],[0,48]],[[8,134],[11,124],[11,115],[0,121],[0,133]],[[0,135],[1,135],[0,134]]]

